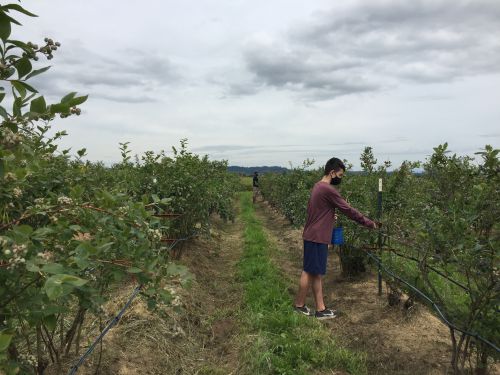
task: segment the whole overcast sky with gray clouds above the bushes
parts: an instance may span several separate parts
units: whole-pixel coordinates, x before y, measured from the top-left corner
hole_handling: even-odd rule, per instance
[[[91,160],[190,149],[231,165],[359,166],[500,146],[499,0],[26,0],[13,37],[61,42],[33,84]],[[46,64],[41,63],[40,66]]]

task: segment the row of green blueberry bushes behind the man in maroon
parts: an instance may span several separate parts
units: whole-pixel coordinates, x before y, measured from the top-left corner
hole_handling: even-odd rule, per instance
[[[360,158],[363,173],[348,170],[339,187],[352,206],[376,218],[378,180],[382,178],[382,238],[383,248],[388,251],[384,252],[384,262],[431,296],[457,326],[497,345],[499,152],[487,145],[475,157],[458,156],[443,144],[434,148],[425,162],[405,161],[389,171],[391,163],[377,163],[373,150],[367,147]],[[261,178],[265,199],[297,226],[304,224],[310,189],[322,177],[322,170],[311,166],[306,162],[288,173]],[[378,233],[342,216],[340,223],[346,238],[341,249],[343,266],[353,274],[364,269],[364,251],[377,248]],[[469,360],[481,373],[486,371],[488,358],[498,358],[498,353],[487,345],[454,330],[451,341],[452,364],[457,373],[469,366]]]

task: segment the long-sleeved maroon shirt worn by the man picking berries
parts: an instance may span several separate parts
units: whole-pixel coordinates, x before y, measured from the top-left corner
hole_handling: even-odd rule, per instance
[[[302,238],[306,241],[329,244],[332,239],[336,208],[365,227],[373,228],[375,224],[358,210],[352,208],[340,196],[337,189],[327,182],[319,181],[314,185],[307,204],[307,221]]]

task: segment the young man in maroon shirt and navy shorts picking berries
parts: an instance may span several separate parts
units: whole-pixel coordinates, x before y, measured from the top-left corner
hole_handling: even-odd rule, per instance
[[[295,298],[295,310],[305,315],[312,315],[306,306],[309,288],[312,288],[316,302],[315,316],[318,319],[336,317],[335,310],[327,309],[323,300],[322,277],[326,273],[328,244],[338,209],[350,219],[370,229],[377,229],[376,223],[352,208],[341,197],[335,185],[342,182],[345,165],[340,159],[331,158],[325,165],[324,176],[318,181],[312,191],[307,205],[307,221],[302,238],[304,240],[304,263],[300,276],[299,292]]]

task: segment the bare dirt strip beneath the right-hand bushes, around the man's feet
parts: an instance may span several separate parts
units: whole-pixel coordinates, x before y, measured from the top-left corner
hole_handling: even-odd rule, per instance
[[[302,270],[302,231],[265,202],[257,215],[274,242],[280,267],[290,276],[290,293],[295,295]],[[437,375],[450,372],[448,328],[424,306],[411,313],[390,307],[387,294],[377,295],[375,274],[356,280],[340,276],[338,257],[330,253],[323,290],[325,303],[340,311],[339,317],[325,322],[341,343],[367,353],[368,373]],[[312,299],[309,306],[314,306]]]

